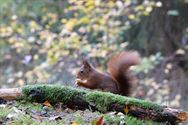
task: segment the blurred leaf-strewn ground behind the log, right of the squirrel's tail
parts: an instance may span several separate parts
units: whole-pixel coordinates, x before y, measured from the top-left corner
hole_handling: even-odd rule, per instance
[[[133,96],[188,110],[188,55],[163,58],[148,73],[139,73]]]

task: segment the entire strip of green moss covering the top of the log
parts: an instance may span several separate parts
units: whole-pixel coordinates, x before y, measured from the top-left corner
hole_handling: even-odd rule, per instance
[[[35,90],[39,95],[32,97],[32,91]],[[32,94],[31,94],[32,93]],[[41,94],[42,93],[42,94]],[[35,93],[36,94],[36,93]],[[40,97],[41,96],[41,97]],[[90,105],[97,107],[99,111],[106,112],[111,104],[119,105],[133,105],[146,109],[154,109],[156,111],[162,111],[162,106],[136,98],[130,98],[120,96],[108,92],[99,91],[86,91],[71,87],[57,86],[57,85],[29,85],[22,88],[22,95],[20,99],[26,99],[29,101],[46,101],[51,103],[63,102],[67,104],[74,99],[81,99]]]

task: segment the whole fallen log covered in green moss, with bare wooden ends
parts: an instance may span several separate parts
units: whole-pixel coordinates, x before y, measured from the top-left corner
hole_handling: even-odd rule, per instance
[[[168,122],[172,125],[188,120],[188,112],[109,92],[56,85],[27,85],[21,89],[0,89],[0,94],[0,98],[5,100],[17,99],[39,103],[49,101],[51,104],[61,102],[69,108],[91,109],[103,113],[117,111],[139,119]]]

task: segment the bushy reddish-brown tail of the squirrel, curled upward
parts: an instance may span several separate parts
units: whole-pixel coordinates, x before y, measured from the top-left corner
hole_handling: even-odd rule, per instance
[[[132,65],[140,62],[140,56],[137,52],[124,51],[113,56],[108,62],[108,70],[111,76],[118,82],[120,93],[129,95],[134,76],[128,71]]]

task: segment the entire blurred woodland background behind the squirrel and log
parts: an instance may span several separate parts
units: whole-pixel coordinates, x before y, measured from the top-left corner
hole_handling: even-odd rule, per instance
[[[99,70],[138,51],[133,97],[188,110],[188,0],[0,0],[0,87],[75,86],[87,58]]]

